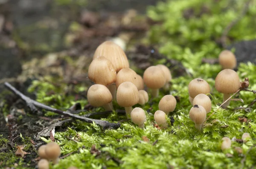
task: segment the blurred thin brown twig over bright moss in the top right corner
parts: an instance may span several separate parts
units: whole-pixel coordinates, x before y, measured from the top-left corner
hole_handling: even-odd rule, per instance
[[[244,8],[241,11],[241,14],[235,19],[233,20],[229,25],[227,25],[227,27],[224,29],[222,36],[221,36],[221,44],[223,48],[227,48],[227,34],[228,32],[231,30],[231,28],[236,25],[246,14],[248,8],[249,8],[249,4],[250,4],[251,0],[248,0],[247,3],[244,4]]]

